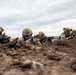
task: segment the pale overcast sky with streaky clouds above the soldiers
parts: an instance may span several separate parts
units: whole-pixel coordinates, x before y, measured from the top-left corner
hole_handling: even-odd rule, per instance
[[[0,0],[0,26],[11,37],[24,28],[59,35],[63,27],[76,29],[76,0]]]

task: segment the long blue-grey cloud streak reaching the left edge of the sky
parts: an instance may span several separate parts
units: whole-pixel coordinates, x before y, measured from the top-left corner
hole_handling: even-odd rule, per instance
[[[38,16],[14,15],[14,16],[9,16],[5,18],[0,18],[0,25],[13,25],[13,24],[16,24],[17,22],[30,21],[35,19],[38,19]]]

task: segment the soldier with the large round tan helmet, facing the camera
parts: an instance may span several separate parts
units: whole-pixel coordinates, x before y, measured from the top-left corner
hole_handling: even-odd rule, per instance
[[[31,44],[31,38],[32,38],[32,30],[29,29],[29,28],[25,28],[23,31],[22,31],[22,37],[20,39],[18,39],[18,43],[21,44],[21,45],[24,45],[24,41],[26,44]]]

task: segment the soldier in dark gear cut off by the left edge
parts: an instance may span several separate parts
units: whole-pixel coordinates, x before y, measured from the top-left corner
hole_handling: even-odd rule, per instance
[[[3,31],[4,31],[4,29],[2,27],[0,27],[0,43],[1,44],[8,43],[11,38],[11,37],[6,36],[5,33],[2,34]]]

